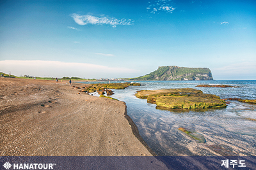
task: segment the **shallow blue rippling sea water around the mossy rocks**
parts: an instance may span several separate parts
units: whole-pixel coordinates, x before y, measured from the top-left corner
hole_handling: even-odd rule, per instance
[[[124,101],[127,114],[138,126],[141,137],[157,155],[256,155],[256,104],[230,101],[227,108],[210,110],[157,110],[156,104],[138,99],[138,90],[193,88],[221,99],[256,99],[256,81],[134,81],[138,87],[113,90],[114,97]],[[111,82],[113,83],[113,82]],[[116,83],[119,83],[117,81]],[[232,85],[236,87],[196,87],[200,84]],[[249,120],[248,118],[252,118]],[[179,127],[204,135],[198,143]]]

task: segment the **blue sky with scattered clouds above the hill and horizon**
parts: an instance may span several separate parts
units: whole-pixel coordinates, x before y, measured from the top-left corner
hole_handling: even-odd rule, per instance
[[[256,80],[255,0],[0,0],[0,71],[133,78],[159,66]]]

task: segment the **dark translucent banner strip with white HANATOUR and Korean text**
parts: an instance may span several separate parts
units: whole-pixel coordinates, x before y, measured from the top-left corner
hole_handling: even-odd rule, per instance
[[[0,169],[256,169],[256,157],[0,157]]]

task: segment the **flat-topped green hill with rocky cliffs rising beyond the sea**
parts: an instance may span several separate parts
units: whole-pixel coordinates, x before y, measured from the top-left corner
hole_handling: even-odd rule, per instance
[[[209,68],[189,68],[178,66],[161,66],[145,76],[129,80],[213,80]]]

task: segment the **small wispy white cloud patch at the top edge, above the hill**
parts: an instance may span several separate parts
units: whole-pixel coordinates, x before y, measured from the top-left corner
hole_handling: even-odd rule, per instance
[[[148,2],[147,10],[153,8],[150,13],[156,13],[157,11],[166,11],[167,13],[172,13],[176,8],[174,8],[170,2],[172,0],[157,0],[152,3]]]

